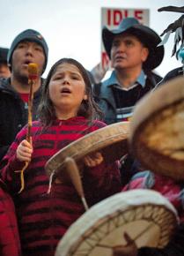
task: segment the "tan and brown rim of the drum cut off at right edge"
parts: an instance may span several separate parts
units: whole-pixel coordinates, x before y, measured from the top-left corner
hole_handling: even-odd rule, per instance
[[[143,134],[146,125],[151,124],[154,117],[158,117],[171,106],[178,106],[180,102],[183,102],[183,84],[184,78],[178,77],[169,80],[154,92],[146,94],[136,104],[129,125],[129,148],[131,153],[145,169],[151,169],[153,172],[172,177],[175,180],[184,179],[184,160],[154,150],[142,141],[140,134]],[[162,164],[159,164],[160,162]]]

